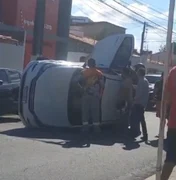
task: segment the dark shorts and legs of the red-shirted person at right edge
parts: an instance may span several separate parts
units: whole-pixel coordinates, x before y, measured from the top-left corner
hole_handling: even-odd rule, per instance
[[[168,180],[176,165],[176,130],[168,130],[166,161],[163,166],[161,180]]]

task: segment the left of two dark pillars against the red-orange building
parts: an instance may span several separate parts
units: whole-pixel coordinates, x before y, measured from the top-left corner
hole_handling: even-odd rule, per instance
[[[36,3],[31,60],[35,60],[38,56],[42,55],[45,24],[45,4],[46,0],[37,0]]]

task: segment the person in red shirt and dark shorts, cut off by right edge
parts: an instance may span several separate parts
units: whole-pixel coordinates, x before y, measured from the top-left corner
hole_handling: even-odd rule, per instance
[[[164,92],[164,101],[170,107],[166,161],[163,167],[161,180],[168,180],[176,165],[176,67],[172,68]]]

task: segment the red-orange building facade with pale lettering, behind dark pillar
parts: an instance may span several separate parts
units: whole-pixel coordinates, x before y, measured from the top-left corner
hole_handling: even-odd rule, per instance
[[[71,1],[72,0],[45,0],[43,55],[48,58],[56,58],[56,51],[58,50],[57,43],[68,43],[67,34],[69,32],[66,32],[64,29],[65,26],[62,27],[60,23],[62,23],[64,19],[65,24],[69,24],[71,7],[67,12],[66,9],[68,6],[66,5],[69,4],[71,6]],[[0,0],[2,6],[0,14],[1,22],[7,25],[21,27],[27,32],[24,66],[28,64],[32,55],[36,2],[37,0]],[[64,13],[59,15],[61,8],[64,10]],[[60,47],[62,46],[62,44],[59,45]]]

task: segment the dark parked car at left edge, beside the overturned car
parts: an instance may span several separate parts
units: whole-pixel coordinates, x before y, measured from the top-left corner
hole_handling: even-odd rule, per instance
[[[21,73],[0,68],[0,115],[18,113],[18,97]]]

